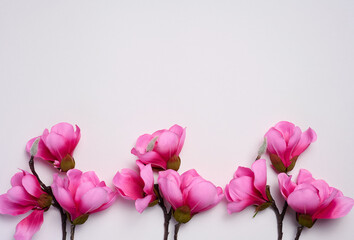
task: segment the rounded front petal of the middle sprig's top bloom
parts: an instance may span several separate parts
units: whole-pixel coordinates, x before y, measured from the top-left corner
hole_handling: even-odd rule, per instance
[[[163,132],[157,139],[154,151],[158,152],[166,160],[176,155],[179,139],[177,135],[170,131]]]

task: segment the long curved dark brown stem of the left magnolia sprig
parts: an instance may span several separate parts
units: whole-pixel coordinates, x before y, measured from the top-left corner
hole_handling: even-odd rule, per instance
[[[34,156],[31,156],[29,160],[29,167],[31,169],[32,174],[37,178],[39,185],[41,186],[42,190],[46,192],[48,195],[50,195],[53,198],[53,206],[57,208],[60,212],[60,217],[61,217],[61,230],[62,230],[62,240],[66,240],[66,214],[64,212],[64,209],[60,206],[58,201],[55,199],[52,188],[50,186],[46,186],[42,180],[39,178],[35,168],[34,168]]]

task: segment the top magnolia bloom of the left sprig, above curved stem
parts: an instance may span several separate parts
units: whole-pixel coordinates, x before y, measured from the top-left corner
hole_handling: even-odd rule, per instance
[[[80,140],[80,128],[76,126],[76,131],[69,123],[58,123],[54,125],[50,132],[45,129],[38,143],[36,157],[50,161],[54,166],[62,171],[67,171],[75,167],[72,154]],[[38,137],[27,142],[26,151],[30,152],[33,142]]]

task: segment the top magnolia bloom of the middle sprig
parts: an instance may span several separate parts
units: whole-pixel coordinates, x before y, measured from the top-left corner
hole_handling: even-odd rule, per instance
[[[173,125],[169,130],[159,130],[152,135],[141,135],[131,153],[144,164],[152,167],[178,170],[186,129]]]

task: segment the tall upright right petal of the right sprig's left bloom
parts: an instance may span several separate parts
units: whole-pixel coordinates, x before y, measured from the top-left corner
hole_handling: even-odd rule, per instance
[[[265,159],[259,159],[252,164],[254,172],[254,186],[262,194],[263,199],[268,200],[266,194],[267,166]]]

